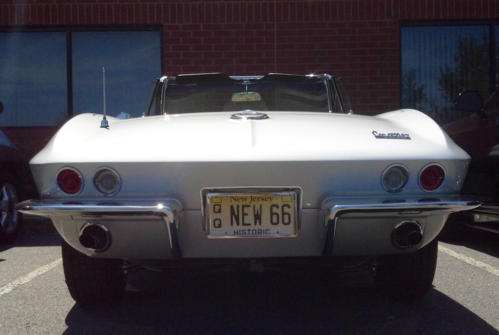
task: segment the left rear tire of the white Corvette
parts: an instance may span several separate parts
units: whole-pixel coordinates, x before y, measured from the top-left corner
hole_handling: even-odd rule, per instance
[[[69,293],[80,305],[106,305],[123,297],[128,276],[122,260],[91,258],[62,240],[62,265]]]

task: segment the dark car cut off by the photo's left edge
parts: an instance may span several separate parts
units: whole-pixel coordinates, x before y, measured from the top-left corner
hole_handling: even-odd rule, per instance
[[[13,242],[19,234],[20,213],[15,205],[20,190],[20,161],[19,152],[0,131],[0,244]]]

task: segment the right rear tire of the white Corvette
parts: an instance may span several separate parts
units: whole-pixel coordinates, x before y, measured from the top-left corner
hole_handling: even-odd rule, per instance
[[[422,298],[432,288],[437,254],[435,239],[411,254],[380,257],[375,275],[378,293],[394,298]]]

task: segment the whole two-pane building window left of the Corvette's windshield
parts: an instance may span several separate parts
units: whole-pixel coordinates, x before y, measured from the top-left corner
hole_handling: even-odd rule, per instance
[[[60,126],[73,115],[140,116],[161,76],[161,28],[0,32],[1,126]]]

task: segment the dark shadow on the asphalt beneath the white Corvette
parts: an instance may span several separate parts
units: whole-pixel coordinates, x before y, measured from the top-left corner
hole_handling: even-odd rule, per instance
[[[369,282],[324,272],[138,272],[121,304],[81,307],[72,334],[499,334],[432,289],[421,300],[374,295]]]

